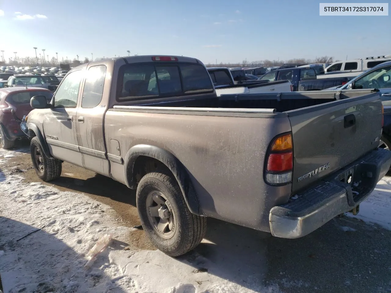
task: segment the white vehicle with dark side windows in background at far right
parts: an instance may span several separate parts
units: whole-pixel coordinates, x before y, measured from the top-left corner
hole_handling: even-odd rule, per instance
[[[390,61],[391,55],[378,57],[366,57],[365,59],[354,59],[338,61],[325,68],[325,72],[332,71],[366,71],[380,63]]]

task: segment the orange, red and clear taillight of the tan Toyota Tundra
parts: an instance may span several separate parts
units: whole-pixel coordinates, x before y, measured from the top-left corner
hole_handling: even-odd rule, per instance
[[[292,182],[293,140],[291,133],[277,136],[269,145],[266,155],[265,181],[270,185],[285,185]]]

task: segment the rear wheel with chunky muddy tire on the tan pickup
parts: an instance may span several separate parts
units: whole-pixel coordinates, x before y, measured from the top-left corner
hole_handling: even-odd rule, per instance
[[[151,205],[148,204],[150,202],[148,198],[156,194],[165,197],[168,203],[166,201],[167,205],[161,206],[166,207],[174,218],[172,220],[174,229],[170,231],[171,234],[168,233],[168,238],[164,236],[165,233],[159,233],[156,228],[161,218],[153,217],[149,212]],[[189,211],[178,183],[164,172],[151,172],[142,177],[136,191],[136,205],[145,233],[154,246],[165,254],[183,255],[199,245],[205,236],[206,217],[197,216]],[[154,220],[156,222],[151,223]]]

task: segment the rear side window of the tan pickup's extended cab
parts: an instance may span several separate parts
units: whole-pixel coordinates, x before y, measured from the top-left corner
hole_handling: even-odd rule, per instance
[[[84,82],[82,108],[93,108],[99,105],[103,96],[104,79],[106,77],[106,66],[92,66],[86,72]]]

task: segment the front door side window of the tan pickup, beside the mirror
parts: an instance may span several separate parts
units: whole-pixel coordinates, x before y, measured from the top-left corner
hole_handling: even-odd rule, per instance
[[[54,95],[55,108],[76,108],[84,70],[73,71],[63,80]]]

